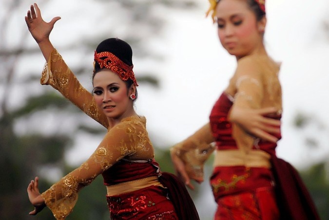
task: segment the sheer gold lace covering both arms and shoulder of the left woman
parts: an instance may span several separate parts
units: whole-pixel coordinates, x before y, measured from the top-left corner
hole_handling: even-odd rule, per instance
[[[40,81],[41,84],[51,85],[87,115],[108,128],[105,137],[87,161],[41,194],[54,217],[65,219],[77,202],[78,192],[99,174],[122,158],[152,160],[154,148],[146,130],[145,117],[124,118],[109,128],[108,120],[97,109],[92,94],[80,85],[56,49],[51,53]]]

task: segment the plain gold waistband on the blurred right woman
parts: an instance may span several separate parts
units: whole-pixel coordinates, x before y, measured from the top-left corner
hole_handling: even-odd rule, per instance
[[[271,155],[263,150],[244,152],[239,149],[216,150],[213,166],[238,166],[271,168]]]

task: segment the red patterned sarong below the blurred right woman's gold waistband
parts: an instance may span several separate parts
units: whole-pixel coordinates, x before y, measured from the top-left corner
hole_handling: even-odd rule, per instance
[[[244,166],[215,167],[211,178],[218,208],[215,220],[278,220],[271,171]]]

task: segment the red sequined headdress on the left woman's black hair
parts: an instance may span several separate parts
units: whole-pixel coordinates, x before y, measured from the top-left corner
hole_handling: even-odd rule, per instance
[[[103,59],[101,59],[103,58]],[[105,59],[104,59],[105,58]],[[110,52],[100,52],[97,53],[95,51],[94,54],[94,60],[97,62],[100,66],[100,68],[107,68],[114,73],[116,73],[123,81],[127,81],[128,79],[133,80],[134,85],[138,86],[135,78],[135,74],[133,71],[132,66],[128,66],[124,62],[122,62],[119,58],[116,57],[116,55],[110,53]]]

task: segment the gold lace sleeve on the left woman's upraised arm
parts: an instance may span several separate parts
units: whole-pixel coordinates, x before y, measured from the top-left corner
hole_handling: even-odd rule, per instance
[[[79,109],[108,128],[108,120],[97,108],[93,95],[81,86],[56,49],[52,51],[48,62],[44,65],[40,83],[51,85]]]

